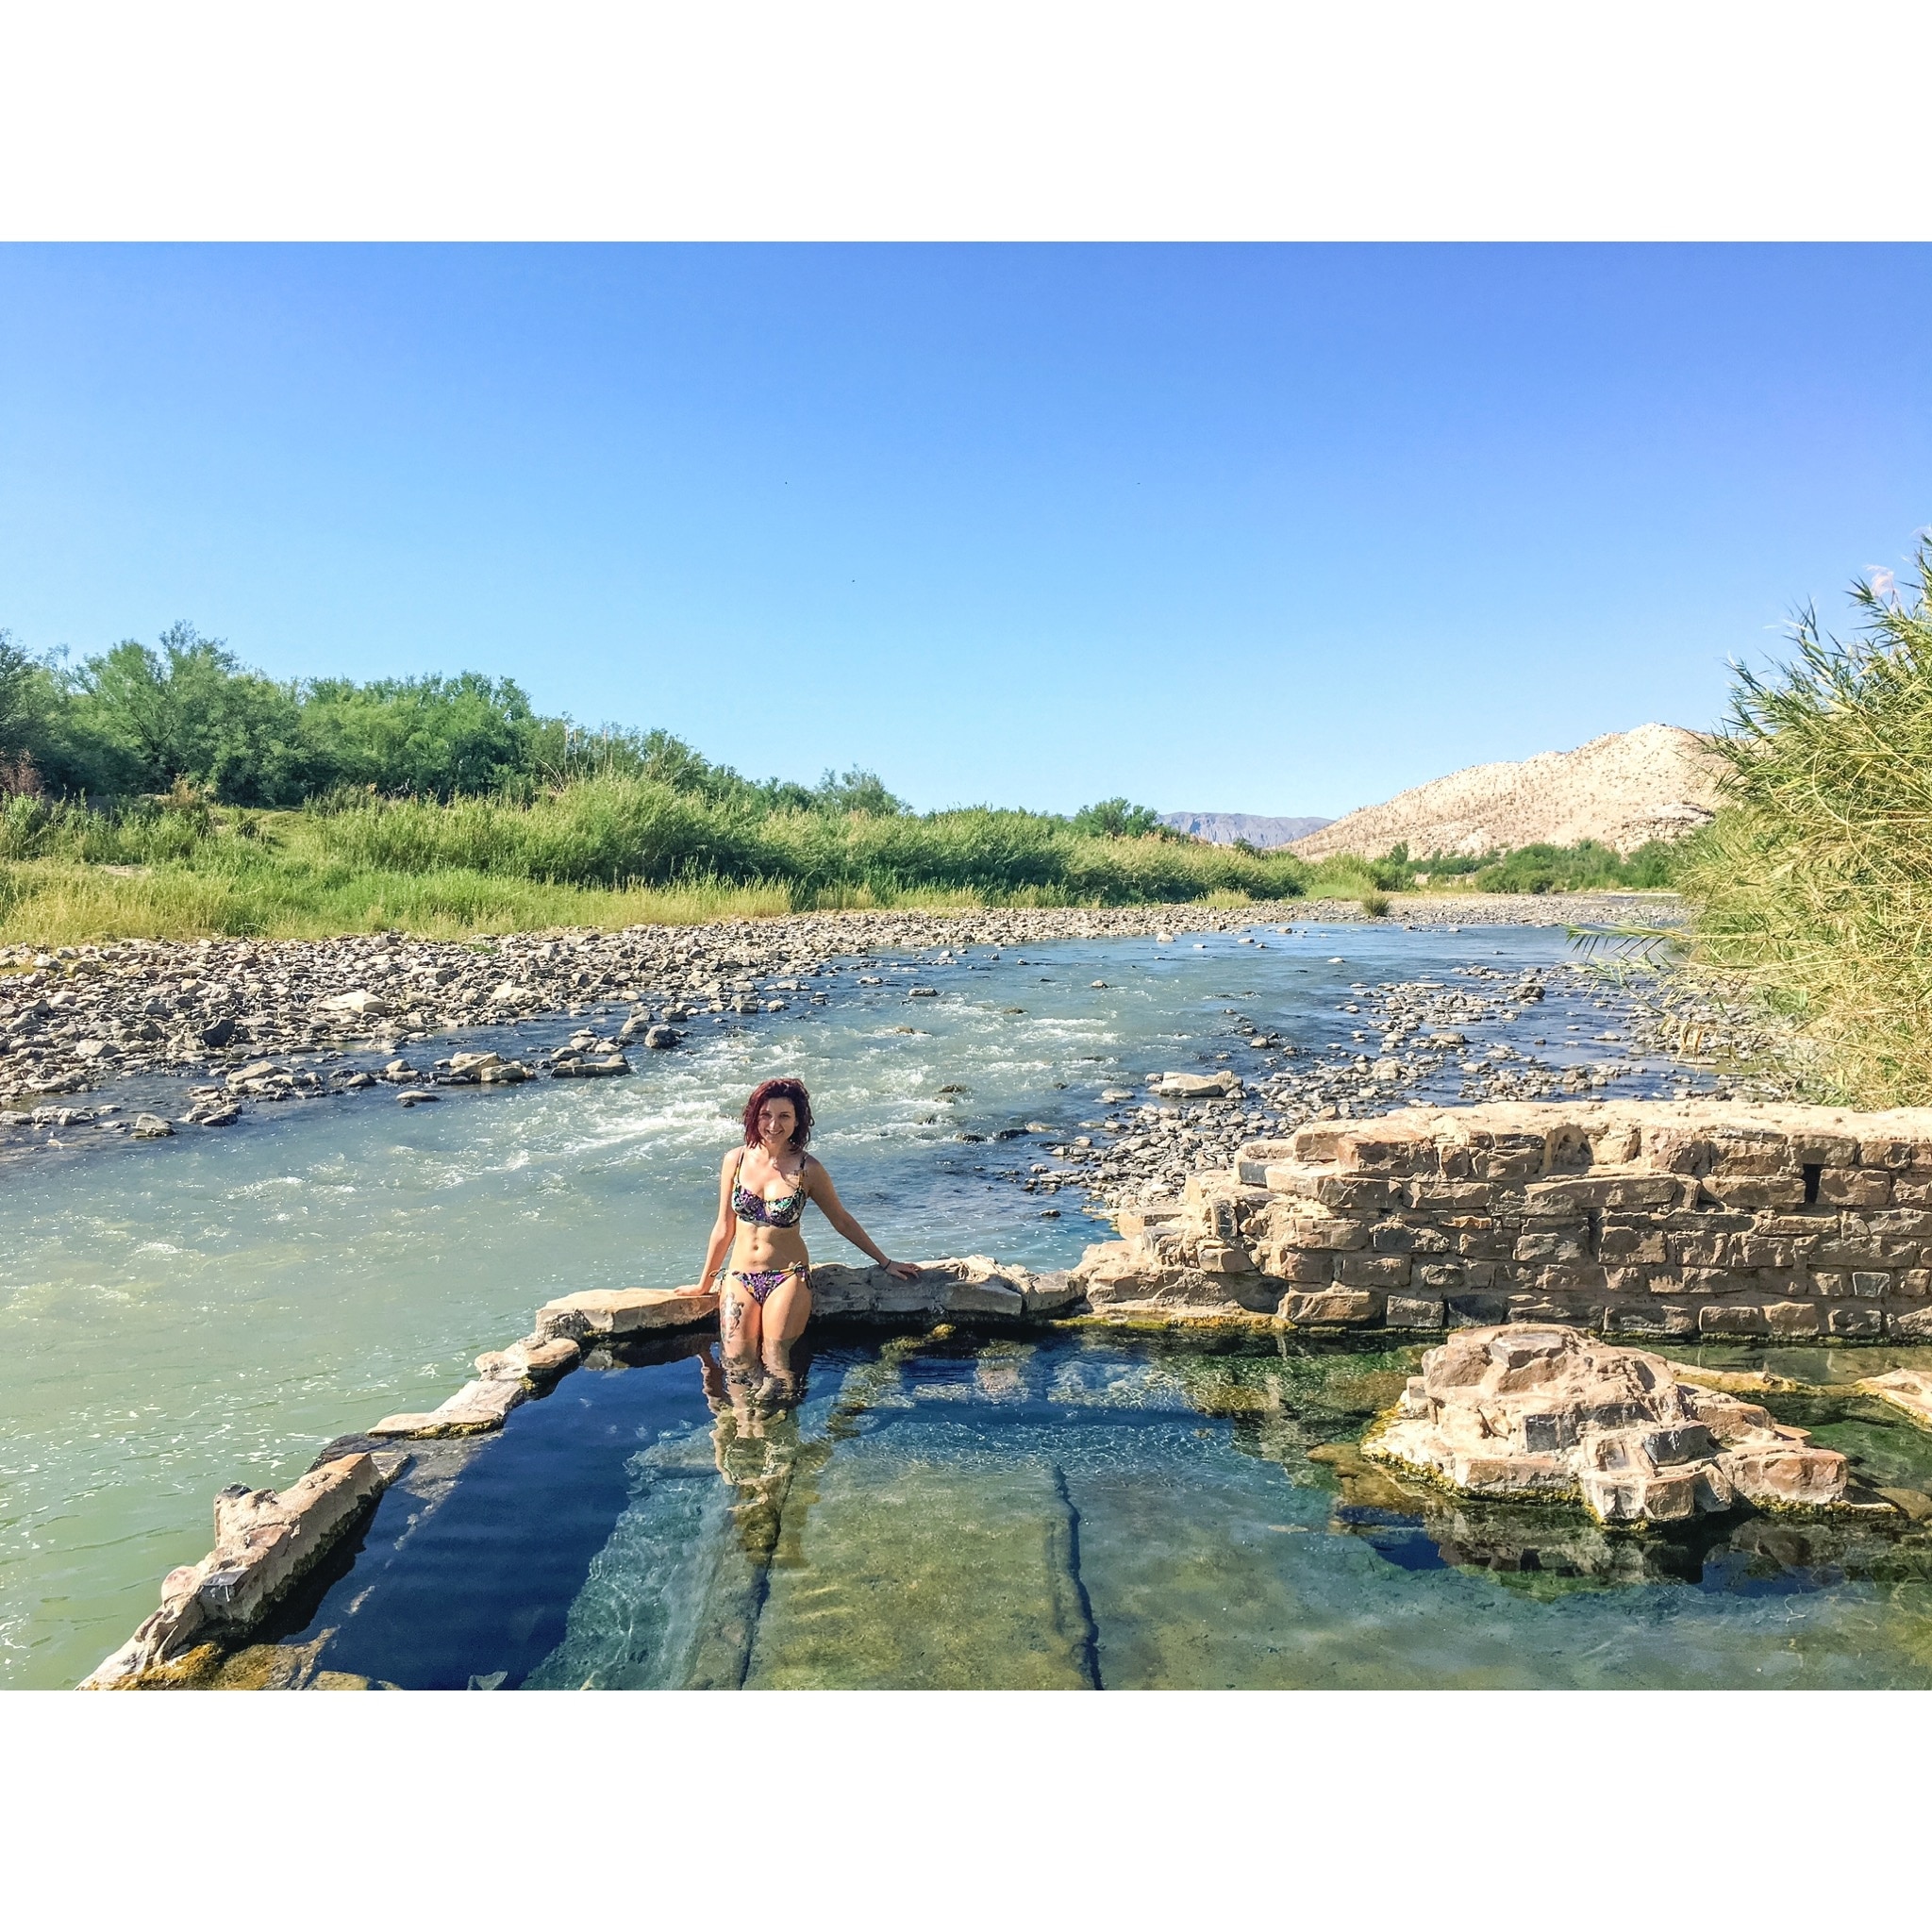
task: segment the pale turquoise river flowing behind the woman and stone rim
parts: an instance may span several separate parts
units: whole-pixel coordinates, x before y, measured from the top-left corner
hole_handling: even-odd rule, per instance
[[[1167,1066],[1252,1072],[1256,1024],[1320,1053],[1360,1024],[1339,1010],[1354,981],[1569,956],[1551,929],[1258,931],[1265,947],[1182,933],[923,956],[916,978],[941,997],[920,1001],[914,976],[873,968],[885,983],[867,987],[854,964],[811,981],[825,1007],[697,1022],[628,1080],[450,1090],[408,1111],[377,1090],[0,1161],[0,1683],[85,1675],[207,1549],[224,1484],[288,1482],[332,1435],[433,1405],[553,1294],[690,1279],[734,1111],[769,1072],[811,1084],[819,1151],[889,1252],[1065,1265],[1109,1229],[1074,1192],[1041,1219],[1003,1179],[1034,1142],[962,1132],[1076,1128],[1105,1086]],[[1551,1057],[1555,1018],[1536,1022]],[[412,1057],[541,1049],[578,1024]],[[184,1099],[168,1082],[104,1097]],[[813,1240],[837,1258],[823,1225]]]

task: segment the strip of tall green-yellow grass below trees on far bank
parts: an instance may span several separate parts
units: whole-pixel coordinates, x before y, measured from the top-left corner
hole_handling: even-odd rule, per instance
[[[755,813],[634,775],[529,804],[336,800],[209,811],[0,811],[0,939],[692,923],[867,906],[1289,898],[1308,867],[1165,838],[1086,838],[1026,811]]]

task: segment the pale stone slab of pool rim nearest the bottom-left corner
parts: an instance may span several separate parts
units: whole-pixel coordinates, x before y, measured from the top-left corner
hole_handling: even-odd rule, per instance
[[[222,1490],[214,1499],[214,1549],[168,1573],[160,1609],[81,1689],[135,1685],[197,1642],[249,1629],[327,1555],[402,1461],[346,1455],[286,1490]]]

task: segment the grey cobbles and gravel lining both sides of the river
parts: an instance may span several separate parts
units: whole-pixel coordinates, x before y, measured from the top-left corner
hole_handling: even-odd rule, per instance
[[[1656,918],[1656,900],[1619,895],[1495,895],[1406,898],[1378,923],[1451,929],[1617,923],[1631,916],[1633,904]],[[419,1103],[452,1084],[624,1074],[630,1055],[676,1047],[680,1030],[703,1016],[825,1005],[840,983],[879,985],[887,974],[941,970],[960,964],[968,949],[999,952],[1111,937],[1184,945],[1196,933],[1244,933],[1252,935],[1248,943],[1265,947],[1269,931],[1368,920],[1354,902],[1298,900],[1238,908],[838,912],[473,941],[375,933],[278,943],[118,941],[54,952],[0,949],[0,1146],[8,1140],[21,1146],[48,1132],[71,1142],[89,1130],[162,1138],[178,1128],[222,1128],[257,1105],[375,1084]],[[1256,1022],[1248,1057],[1258,1061],[1248,1080],[1192,1074],[1165,1082],[1148,1099],[1119,1090],[1109,1105],[1134,1101],[1134,1109],[1063,1136],[1053,1163],[1036,1163],[1026,1184],[1051,1194],[1078,1182],[1105,1204],[1157,1198],[1179,1188],[1204,1157],[1306,1119],[1401,1105],[1418,1086],[1439,1082],[1445,1066],[1459,1068],[1470,1099],[1538,1097],[1615,1078],[1615,1068],[1559,1072],[1540,1063],[1534,1049],[1499,1039],[1470,1045],[1470,1028],[1493,1032],[1499,1022],[1532,1014],[1553,983],[1551,974],[1567,974],[1602,995],[1605,1043],[1615,1034],[1619,1051],[1667,1049],[1681,1057],[1694,1045],[1700,1061],[1718,1065],[1743,1041],[1735,1016],[1687,1014],[1681,999],[1673,1005],[1650,976],[1617,985],[1582,966],[1520,974],[1466,966],[1453,985],[1362,985],[1345,1003],[1360,1018],[1352,1030],[1358,1051],[1316,1061]],[[925,991],[908,985],[908,997]],[[554,1014],[597,1024],[578,1030],[539,1065],[506,1053],[439,1059],[433,1049],[421,1051],[442,1034]],[[1573,1024],[1569,1032],[1575,1034]],[[129,1111],[85,1097],[139,1074],[176,1076],[180,1103]]]

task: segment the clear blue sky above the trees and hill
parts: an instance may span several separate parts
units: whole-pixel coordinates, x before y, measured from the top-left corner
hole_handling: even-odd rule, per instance
[[[1341,813],[1932,524],[1926,247],[0,249],[0,624],[920,808]]]

